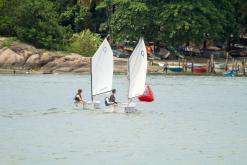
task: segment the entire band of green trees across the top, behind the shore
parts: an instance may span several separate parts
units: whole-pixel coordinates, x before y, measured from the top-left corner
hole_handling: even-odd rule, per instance
[[[0,0],[0,35],[55,50],[79,49],[83,37],[99,44],[98,34],[114,42],[224,42],[246,32],[246,8],[245,0]]]

